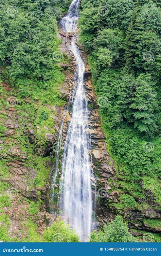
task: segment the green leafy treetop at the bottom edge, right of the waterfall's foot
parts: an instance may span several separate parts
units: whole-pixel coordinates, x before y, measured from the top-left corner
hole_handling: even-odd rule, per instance
[[[108,225],[104,225],[104,230],[98,233],[91,233],[90,242],[137,242],[137,240],[128,231],[127,223],[118,215]]]

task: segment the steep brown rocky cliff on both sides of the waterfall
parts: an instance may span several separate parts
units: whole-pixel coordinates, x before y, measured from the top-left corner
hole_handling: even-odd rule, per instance
[[[73,76],[75,59],[68,49],[72,34],[59,29],[58,37],[62,43],[60,49],[70,57],[69,64],[59,63],[65,75],[64,84],[59,86],[61,95],[68,102],[74,88]],[[80,46],[81,47],[81,46]],[[117,172],[114,162],[106,148],[106,138],[101,128],[101,120],[92,85],[88,56],[81,50],[86,65],[85,88],[89,106],[89,129],[91,138],[91,156],[94,172],[93,193],[96,187],[97,224],[108,223],[116,214],[122,214],[128,220],[129,228],[134,235],[142,236],[146,232],[160,231],[158,226],[159,205],[153,200],[150,191],[144,201],[136,193],[135,202],[124,203],[121,180],[115,178]],[[17,98],[17,92],[9,84],[0,84],[1,91],[1,223],[5,241],[40,241],[42,231],[52,220],[49,213],[49,193],[51,176],[54,172],[54,145],[57,141],[61,121],[65,118],[62,132],[64,145],[70,114],[66,104],[61,106],[45,105],[49,116],[44,123],[36,122],[39,102],[30,98]],[[50,125],[47,120],[50,118]],[[59,170],[60,174],[61,170]],[[140,184],[141,185],[141,184]],[[128,194],[127,194],[128,195]],[[124,207],[122,204],[124,203]],[[132,205],[133,203],[133,205]],[[131,206],[132,205],[132,206]],[[140,231],[141,230],[141,231]],[[36,239],[36,240],[35,240]]]

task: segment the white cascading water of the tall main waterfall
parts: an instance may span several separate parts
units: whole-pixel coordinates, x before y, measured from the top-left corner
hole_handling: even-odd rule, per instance
[[[76,31],[80,0],[73,0],[61,26],[65,32]],[[60,207],[65,222],[69,223],[81,241],[87,241],[92,224],[91,161],[89,157],[88,108],[85,97],[85,65],[75,44],[71,40],[70,50],[75,56],[75,90],[72,101],[71,121],[67,132],[60,182]]]

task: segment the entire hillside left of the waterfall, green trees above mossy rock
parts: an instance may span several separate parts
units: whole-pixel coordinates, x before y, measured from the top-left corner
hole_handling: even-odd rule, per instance
[[[54,159],[47,134],[55,133],[54,106],[65,103],[57,63],[68,61],[58,48],[57,19],[69,4],[0,3],[0,240],[5,242],[41,242],[41,228],[49,222],[44,193]]]

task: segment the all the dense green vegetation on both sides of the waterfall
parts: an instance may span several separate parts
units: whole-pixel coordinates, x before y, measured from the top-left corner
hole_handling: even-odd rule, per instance
[[[57,63],[68,63],[57,37],[58,20],[67,12],[70,0],[1,0],[0,3],[0,240],[11,242],[78,242],[74,231],[64,222],[55,221],[50,228],[38,231],[38,218],[43,204],[41,190],[47,183],[51,160],[43,148],[46,133],[55,133],[50,106],[66,102],[58,86],[65,79]],[[117,174],[108,182],[121,195],[120,202],[108,201],[107,208],[124,216],[125,208],[159,210],[160,203],[160,3],[159,0],[82,0],[79,20],[79,44],[89,55],[92,81],[107,150],[115,162]],[[30,101],[27,101],[29,99]],[[5,111],[16,109],[19,128],[8,138]],[[54,113],[54,114],[53,114]],[[35,129],[35,141],[29,141],[25,129]],[[31,124],[28,126],[28,124]],[[3,144],[3,142],[6,142]],[[37,198],[18,200],[6,194],[11,186],[7,155],[10,147],[21,146],[22,162],[35,170],[29,189],[37,190]],[[36,153],[35,153],[36,152]],[[33,157],[34,155],[34,157]],[[35,156],[36,155],[36,156]],[[21,161],[14,156],[16,161]],[[54,158],[53,158],[54,162]],[[52,162],[52,164],[53,164]],[[30,178],[27,178],[30,180]],[[12,185],[13,186],[13,185]],[[150,191],[150,192],[149,192]],[[15,204],[12,205],[15,200]],[[16,201],[17,200],[17,201]],[[145,202],[146,201],[146,202]],[[11,207],[23,205],[25,234],[11,238]],[[9,214],[8,214],[8,212]],[[9,210],[8,210],[9,209]],[[36,216],[36,217],[35,217]],[[154,216],[155,217],[155,216]],[[145,218],[147,225],[159,226],[158,219]],[[19,222],[22,222],[20,218]],[[18,222],[17,222],[18,223]],[[49,223],[48,223],[49,224]],[[17,224],[19,225],[19,224]],[[119,229],[119,227],[122,229]],[[21,227],[22,228],[22,227]],[[27,230],[27,231],[26,231]],[[41,230],[42,231],[42,230]],[[60,235],[61,233],[61,235]],[[155,241],[159,241],[156,234]],[[91,233],[91,242],[137,241],[118,215],[104,230]]]

